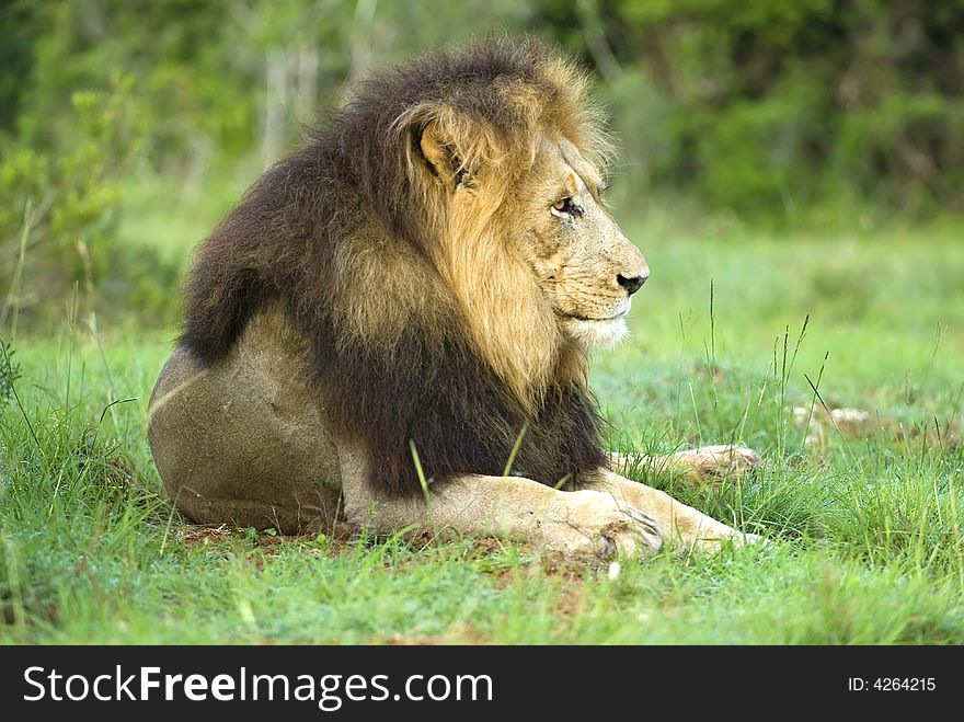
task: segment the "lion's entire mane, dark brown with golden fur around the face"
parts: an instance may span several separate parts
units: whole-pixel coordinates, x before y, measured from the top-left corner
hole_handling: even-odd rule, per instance
[[[377,491],[420,493],[410,443],[428,479],[502,474],[517,446],[514,472],[577,484],[604,463],[585,354],[492,218],[540,135],[598,160],[585,91],[571,64],[507,41],[366,82],[202,243],[182,345],[215,364],[282,302],[331,431],[365,447]],[[426,163],[429,130],[470,204]]]

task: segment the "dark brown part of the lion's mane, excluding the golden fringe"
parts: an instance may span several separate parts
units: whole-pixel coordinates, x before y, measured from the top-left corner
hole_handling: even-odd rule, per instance
[[[576,483],[601,466],[599,417],[583,383],[560,375],[527,409],[483,360],[434,260],[437,217],[410,168],[424,123],[412,108],[445,103],[495,136],[524,138],[525,118],[496,85],[538,89],[551,106],[560,92],[546,82],[551,61],[538,44],[489,41],[366,82],[200,245],[180,343],[216,363],[280,299],[308,339],[332,431],[365,446],[382,493],[420,493],[410,442],[436,480],[501,475],[524,429],[519,473]],[[393,316],[366,325],[368,306]]]

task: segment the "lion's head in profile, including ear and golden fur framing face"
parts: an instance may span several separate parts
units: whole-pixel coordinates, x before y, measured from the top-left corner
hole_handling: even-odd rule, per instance
[[[468,57],[474,72],[438,82],[394,125],[428,248],[481,352],[527,399],[623,337],[649,266],[602,200],[609,149],[585,75],[535,44]],[[493,71],[507,57],[512,71]]]

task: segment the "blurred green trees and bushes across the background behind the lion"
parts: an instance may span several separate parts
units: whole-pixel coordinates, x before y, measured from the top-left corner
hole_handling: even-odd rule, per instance
[[[81,313],[170,322],[198,240],[174,217],[214,222],[372,68],[490,33],[598,72],[633,210],[816,230],[964,211],[964,0],[9,0],[0,329],[62,317],[74,284]]]

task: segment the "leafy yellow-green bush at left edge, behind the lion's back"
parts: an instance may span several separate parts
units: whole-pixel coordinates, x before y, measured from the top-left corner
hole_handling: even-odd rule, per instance
[[[0,144],[0,196],[11,200],[0,206],[0,326],[62,317],[76,284],[81,313],[135,297],[159,310],[144,279],[173,278],[156,254],[115,242],[122,179],[146,135],[133,77],[113,73],[103,91],[72,93],[67,119],[69,137],[48,150]]]

